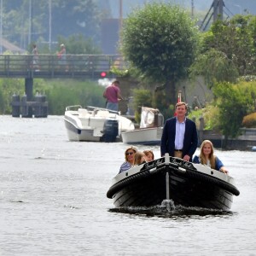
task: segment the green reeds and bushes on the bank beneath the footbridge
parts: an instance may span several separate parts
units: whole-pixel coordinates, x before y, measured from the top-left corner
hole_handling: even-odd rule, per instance
[[[0,113],[10,114],[12,96],[24,95],[24,79],[0,79]],[[62,115],[69,105],[103,108],[104,88],[96,82],[74,79],[34,79],[33,91],[47,96],[49,114]]]

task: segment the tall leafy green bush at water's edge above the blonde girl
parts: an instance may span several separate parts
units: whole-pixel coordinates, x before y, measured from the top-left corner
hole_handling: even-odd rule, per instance
[[[224,137],[237,137],[243,117],[252,110],[248,90],[230,83],[216,84],[213,93],[219,109],[220,130]]]

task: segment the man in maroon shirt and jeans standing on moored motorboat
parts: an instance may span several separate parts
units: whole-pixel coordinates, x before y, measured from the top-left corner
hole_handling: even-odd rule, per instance
[[[119,101],[123,100],[123,97],[120,94],[118,80],[114,80],[112,84],[108,85],[103,93],[103,97],[107,99],[106,108],[113,111],[119,111]]]

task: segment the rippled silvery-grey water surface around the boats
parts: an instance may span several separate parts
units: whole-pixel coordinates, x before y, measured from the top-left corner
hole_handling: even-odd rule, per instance
[[[231,212],[123,212],[106,193],[125,148],[68,142],[62,117],[0,116],[0,255],[256,255],[256,152],[216,150],[241,192]]]

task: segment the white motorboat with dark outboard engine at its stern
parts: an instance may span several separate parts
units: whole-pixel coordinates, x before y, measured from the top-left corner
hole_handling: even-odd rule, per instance
[[[134,130],[134,124],[106,108],[68,106],[64,115],[67,137],[70,141],[106,142],[120,140],[122,131]]]

